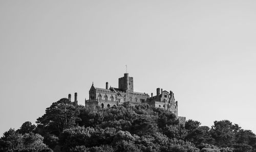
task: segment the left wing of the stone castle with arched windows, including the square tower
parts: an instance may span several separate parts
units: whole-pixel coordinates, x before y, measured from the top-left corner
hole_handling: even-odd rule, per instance
[[[134,92],[133,77],[129,77],[128,73],[124,73],[124,77],[118,80],[118,88],[109,87],[108,82],[106,82],[105,89],[96,88],[92,84],[89,91],[89,100],[86,100],[86,106],[105,108],[122,104],[139,105],[145,104],[149,97],[148,94]]]

